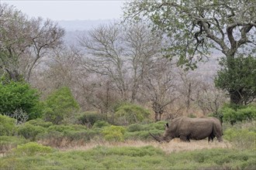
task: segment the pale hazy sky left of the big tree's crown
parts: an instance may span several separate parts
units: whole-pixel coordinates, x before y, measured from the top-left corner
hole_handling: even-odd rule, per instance
[[[119,19],[123,14],[124,0],[0,0],[14,5],[29,16],[41,16],[52,20]]]

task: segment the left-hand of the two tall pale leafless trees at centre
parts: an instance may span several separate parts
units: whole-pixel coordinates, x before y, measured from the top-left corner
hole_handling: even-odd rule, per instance
[[[124,66],[121,36],[119,25],[112,23],[93,29],[88,35],[80,37],[79,42],[89,55],[82,60],[84,69],[112,80],[123,100],[127,100],[127,71]]]

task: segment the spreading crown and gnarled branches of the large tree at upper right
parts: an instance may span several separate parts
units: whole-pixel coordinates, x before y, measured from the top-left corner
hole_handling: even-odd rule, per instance
[[[227,68],[238,53],[255,53],[256,5],[248,1],[162,0],[127,2],[126,19],[148,19],[154,29],[170,38],[166,56],[178,56],[179,64],[195,68],[211,49],[220,50]],[[231,103],[239,93],[230,93]]]

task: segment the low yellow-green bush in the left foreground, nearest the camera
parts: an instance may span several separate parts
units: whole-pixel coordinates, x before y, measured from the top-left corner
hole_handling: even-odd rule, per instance
[[[12,154],[16,156],[46,155],[52,152],[54,152],[53,148],[37,144],[36,142],[18,145],[17,148],[12,150]]]

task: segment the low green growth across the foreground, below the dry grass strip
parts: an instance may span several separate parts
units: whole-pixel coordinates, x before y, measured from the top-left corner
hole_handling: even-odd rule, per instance
[[[7,155],[0,169],[255,169],[254,150],[205,149],[166,154],[160,148],[96,147],[45,155]]]

